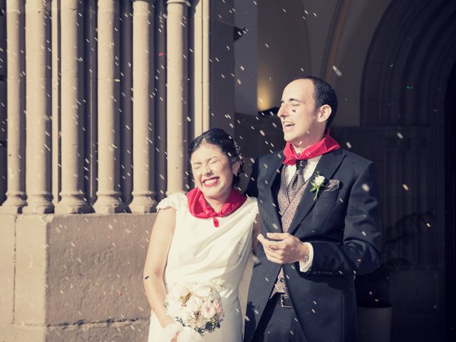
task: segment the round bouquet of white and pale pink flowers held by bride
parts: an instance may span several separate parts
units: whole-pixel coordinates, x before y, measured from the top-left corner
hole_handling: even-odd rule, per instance
[[[166,296],[167,314],[200,334],[213,331],[224,316],[219,289],[213,282],[172,286]]]

